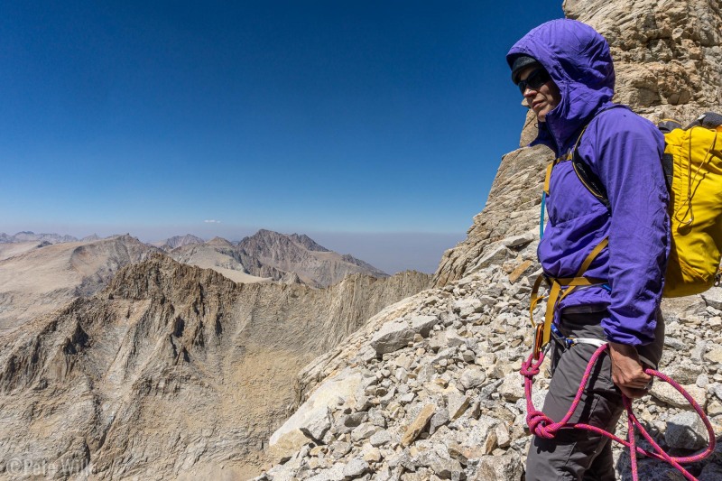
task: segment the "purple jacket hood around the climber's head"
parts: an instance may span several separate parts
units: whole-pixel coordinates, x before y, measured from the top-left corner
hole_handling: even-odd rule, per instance
[[[544,143],[561,153],[570,137],[614,96],[609,44],[589,25],[560,19],[542,23],[516,42],[506,54],[510,68],[519,55],[538,60],[560,90],[560,104],[539,123],[539,136],[532,144]]]

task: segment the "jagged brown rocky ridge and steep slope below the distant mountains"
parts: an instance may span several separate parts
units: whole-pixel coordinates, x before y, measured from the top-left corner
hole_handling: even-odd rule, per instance
[[[0,338],[0,474],[22,459],[71,479],[255,475],[301,367],[429,280],[355,274],[319,290],[162,254],[128,265]]]

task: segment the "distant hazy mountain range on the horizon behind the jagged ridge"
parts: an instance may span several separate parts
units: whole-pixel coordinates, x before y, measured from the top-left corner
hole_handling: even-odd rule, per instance
[[[133,236],[0,234],[0,332],[107,285],[126,264],[165,253],[182,264],[213,269],[234,282],[281,282],[325,288],[349,274],[388,275],[349,254],[338,254],[309,236],[260,230],[233,243],[216,237],[173,236],[146,244]]]

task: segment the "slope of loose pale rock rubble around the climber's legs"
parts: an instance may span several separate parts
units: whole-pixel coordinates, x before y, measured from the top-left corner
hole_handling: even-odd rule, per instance
[[[322,438],[319,430],[295,438],[296,450],[255,479],[523,479],[531,436],[518,371],[531,350],[526,306],[533,276],[511,282],[510,274],[520,266],[529,271],[536,245],[515,245],[514,262],[422,292],[403,315],[395,310],[393,317],[375,319],[336,352],[308,366],[301,376],[308,401],[299,412],[319,397],[328,399],[315,408],[328,430]],[[717,297],[718,291],[665,303],[667,333],[674,340],[667,343],[661,366],[707,407],[717,435],[722,433],[722,364],[717,360],[722,334],[716,320],[722,311],[705,299]],[[540,408],[549,375],[545,364],[535,380],[533,402]],[[329,392],[335,395],[323,394]],[[704,448],[707,433],[677,396],[668,384],[657,382],[634,410],[663,448],[680,455]],[[318,424],[294,415],[276,434],[294,439],[293,430],[310,433]],[[624,418],[617,435],[626,435]],[[615,452],[624,476],[628,455],[619,447]],[[644,479],[674,471],[649,459],[642,459],[640,468],[650,476]],[[691,470],[698,476],[708,473],[699,479],[720,479],[714,476],[722,472],[722,452]]]

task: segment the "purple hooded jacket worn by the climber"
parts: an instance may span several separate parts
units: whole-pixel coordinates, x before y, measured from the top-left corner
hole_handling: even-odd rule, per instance
[[[608,340],[649,344],[670,246],[661,162],[664,137],[625,106],[609,108],[615,105],[614,64],[606,40],[588,25],[574,20],[543,23],[514,44],[506,56],[510,66],[518,55],[538,60],[561,95],[546,122],[539,123],[532,145],[542,143],[560,156],[573,148],[588,125],[579,156],[604,184],[611,205],[607,210],[584,187],[572,162],[554,167],[546,204],[549,222],[538,250],[544,273],[573,277],[589,252],[609,236],[609,245],[585,276],[606,279],[611,287],[577,288],[559,309],[606,307],[602,328]]]

